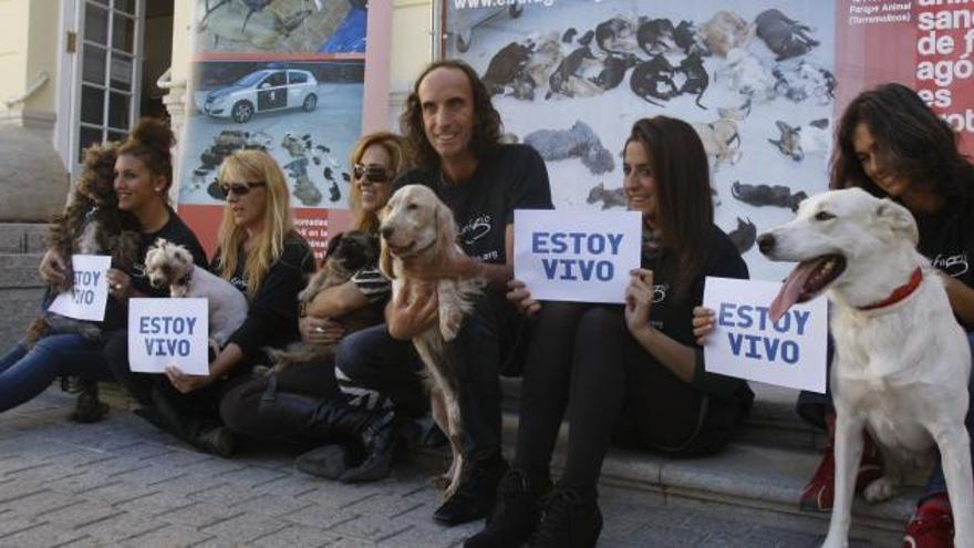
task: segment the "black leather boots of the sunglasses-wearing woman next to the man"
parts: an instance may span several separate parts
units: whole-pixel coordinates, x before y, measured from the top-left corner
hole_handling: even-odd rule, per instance
[[[392,411],[372,411],[341,399],[278,392],[272,399],[261,401],[260,414],[301,425],[299,430],[311,438],[333,442],[338,436],[345,436],[360,444],[365,457],[351,467],[349,455],[334,444],[305,453],[296,461],[301,472],[330,479],[338,475],[344,483],[387,477],[396,447],[403,442],[404,424],[394,418]]]

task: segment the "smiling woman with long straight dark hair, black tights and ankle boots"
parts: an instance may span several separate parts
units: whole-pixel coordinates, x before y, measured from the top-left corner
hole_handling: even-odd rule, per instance
[[[707,276],[747,278],[714,223],[707,158],[685,122],[643,118],[625,142],[623,188],[643,215],[643,268],[625,307],[545,302],[515,280],[508,299],[537,316],[526,360],[514,467],[489,525],[465,546],[594,546],[602,527],[595,486],[612,442],[670,455],[723,447],[753,394],[706,373],[692,310]],[[558,430],[570,425],[564,475],[551,486]]]

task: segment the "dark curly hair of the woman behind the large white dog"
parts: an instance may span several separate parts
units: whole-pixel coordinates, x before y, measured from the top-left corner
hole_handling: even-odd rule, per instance
[[[832,154],[833,188],[858,186],[885,197],[856,155],[852,137],[859,124],[869,127],[887,169],[911,185],[947,200],[966,200],[974,193],[974,166],[957,151],[957,134],[916,92],[897,83],[862,92],[846,107]]]

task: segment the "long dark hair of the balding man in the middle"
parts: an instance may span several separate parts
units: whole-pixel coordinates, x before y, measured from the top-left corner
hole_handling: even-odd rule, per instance
[[[436,61],[426,66],[426,70],[416,79],[413,84],[413,91],[406,99],[406,108],[400,117],[400,128],[413,146],[416,148],[416,159],[423,167],[438,167],[439,154],[429,144],[426,138],[426,128],[423,124],[423,104],[419,102],[419,84],[427,74],[436,69],[456,69],[466,74],[470,82],[470,89],[474,92],[474,135],[470,137],[470,152],[478,159],[483,158],[487,153],[500,146],[500,113],[490,102],[490,93],[487,86],[467,63],[448,59]]]

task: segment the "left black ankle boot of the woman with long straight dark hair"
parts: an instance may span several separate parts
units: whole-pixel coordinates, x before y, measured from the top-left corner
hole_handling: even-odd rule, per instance
[[[468,538],[464,548],[508,548],[525,544],[541,519],[539,502],[550,489],[548,478],[531,482],[528,473],[520,468],[508,471],[500,478],[486,527]]]

